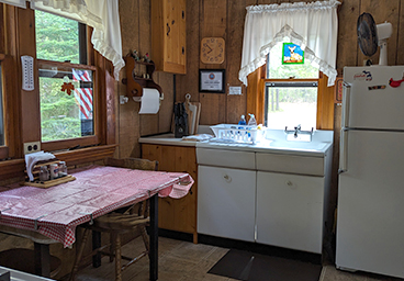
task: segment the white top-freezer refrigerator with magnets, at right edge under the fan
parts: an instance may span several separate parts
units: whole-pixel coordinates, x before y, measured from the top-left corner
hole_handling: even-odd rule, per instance
[[[404,66],[344,68],[339,269],[404,278],[403,76]]]

